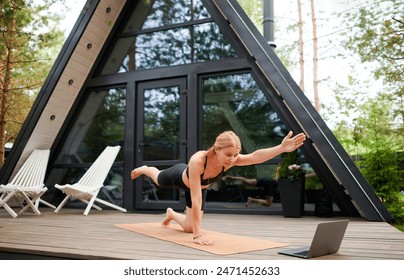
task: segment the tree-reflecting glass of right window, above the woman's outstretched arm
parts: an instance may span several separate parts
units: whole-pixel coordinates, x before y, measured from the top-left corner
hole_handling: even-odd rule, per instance
[[[285,131],[277,113],[249,73],[202,80],[203,148],[233,130],[246,153],[279,144]]]

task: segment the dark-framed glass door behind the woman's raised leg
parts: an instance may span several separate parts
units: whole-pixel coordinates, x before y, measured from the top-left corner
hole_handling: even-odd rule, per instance
[[[160,170],[186,162],[186,79],[137,85],[136,166]],[[182,191],[159,188],[142,176],[135,181],[137,209],[184,209]]]

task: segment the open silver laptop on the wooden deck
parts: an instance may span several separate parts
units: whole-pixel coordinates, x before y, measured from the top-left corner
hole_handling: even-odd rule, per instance
[[[287,249],[278,253],[305,259],[334,254],[341,246],[348,222],[349,220],[338,220],[319,223],[310,246]]]

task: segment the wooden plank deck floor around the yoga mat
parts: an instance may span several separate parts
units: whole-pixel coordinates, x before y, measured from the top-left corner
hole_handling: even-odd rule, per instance
[[[114,224],[161,221],[164,214],[122,213],[114,210],[48,208],[37,216],[26,212],[13,219],[0,209],[1,259],[291,259],[279,249],[218,256],[114,227]],[[205,213],[203,228],[290,244],[309,245],[319,222],[342,217],[284,218],[281,215],[236,215]],[[317,259],[404,260],[404,233],[384,222],[349,218],[338,253]],[[32,257],[28,257],[33,255]]]

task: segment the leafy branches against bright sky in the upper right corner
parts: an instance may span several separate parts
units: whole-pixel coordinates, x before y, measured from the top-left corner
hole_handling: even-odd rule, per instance
[[[374,67],[374,78],[389,89],[394,125],[403,133],[404,123],[404,3],[380,0],[346,14],[346,46]]]

